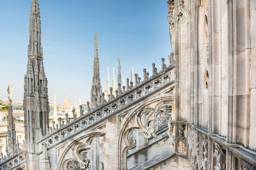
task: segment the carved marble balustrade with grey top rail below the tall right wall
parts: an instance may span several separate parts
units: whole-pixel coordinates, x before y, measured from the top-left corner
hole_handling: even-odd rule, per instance
[[[170,120],[168,125],[173,152],[188,157],[193,169],[227,169],[228,151],[238,160],[241,169],[256,169],[255,153],[243,146],[227,143],[226,138],[209,134],[207,129],[188,122]]]

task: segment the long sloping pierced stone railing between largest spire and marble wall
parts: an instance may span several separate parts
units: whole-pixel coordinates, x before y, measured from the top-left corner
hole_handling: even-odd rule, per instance
[[[103,103],[102,106],[92,110],[90,113],[84,114],[81,111],[81,117],[77,118],[76,114],[73,113],[73,118],[66,118],[66,122],[59,119],[59,124],[55,127],[53,124],[52,131],[47,134],[44,138],[38,141],[40,147],[47,145],[48,148],[60,143],[64,139],[68,139],[70,136],[84,131],[88,127],[92,127],[102,120],[118,113],[118,111],[123,110],[127,106],[130,106],[133,103],[140,101],[144,97],[147,97],[157,90],[160,90],[162,87],[166,87],[174,82],[175,76],[171,78],[171,71],[174,73],[174,66],[166,67],[163,64],[162,70],[157,73],[156,67],[153,64],[153,75],[151,78],[148,78],[148,74],[144,71],[144,81],[140,81],[138,75],[135,79],[135,85],[128,86],[127,91],[123,90],[122,95],[113,98],[108,101],[108,103]],[[128,84],[128,83],[127,83]],[[72,120],[72,121],[71,121]]]

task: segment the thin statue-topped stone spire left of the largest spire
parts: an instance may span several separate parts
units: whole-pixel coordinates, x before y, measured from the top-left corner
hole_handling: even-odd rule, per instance
[[[7,125],[7,146],[6,149],[8,152],[19,152],[19,145],[16,141],[16,131],[15,131],[15,123],[13,119],[13,106],[12,106],[12,87],[11,85],[8,86],[8,100],[9,100],[9,107],[8,107],[8,125]]]

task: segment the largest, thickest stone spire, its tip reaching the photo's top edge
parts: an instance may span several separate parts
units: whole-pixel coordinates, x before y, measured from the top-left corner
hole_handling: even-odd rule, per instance
[[[36,152],[35,143],[45,136],[49,129],[49,99],[43,59],[39,4],[37,0],[33,0],[29,19],[28,67],[24,76],[23,101],[26,145],[31,154]]]

